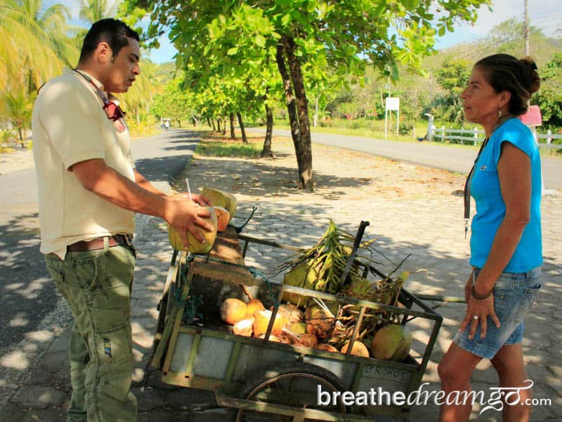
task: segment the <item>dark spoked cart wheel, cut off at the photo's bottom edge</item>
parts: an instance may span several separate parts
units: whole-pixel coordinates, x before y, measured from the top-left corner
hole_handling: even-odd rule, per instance
[[[299,409],[320,409],[347,413],[346,406],[341,403],[341,396],[336,404],[318,405],[318,386],[332,396],[334,391],[344,391],[341,380],[332,372],[322,367],[306,363],[292,363],[282,365],[277,369],[267,370],[255,376],[246,383],[247,388],[241,397],[247,400],[284,404]],[[259,411],[240,409],[236,415],[236,422],[288,422],[293,416],[268,414]],[[306,419],[312,421],[314,419]]]

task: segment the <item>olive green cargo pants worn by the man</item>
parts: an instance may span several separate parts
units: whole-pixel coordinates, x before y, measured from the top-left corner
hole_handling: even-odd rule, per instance
[[[131,289],[133,247],[45,256],[49,273],[74,317],[70,336],[72,398],[67,421],[136,421]]]

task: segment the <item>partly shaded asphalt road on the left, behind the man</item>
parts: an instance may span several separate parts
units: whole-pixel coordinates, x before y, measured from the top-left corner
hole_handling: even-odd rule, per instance
[[[169,130],[133,142],[138,170],[158,189],[170,183],[190,160],[197,138]],[[41,327],[55,311],[58,295],[39,252],[35,170],[0,175],[0,358]]]

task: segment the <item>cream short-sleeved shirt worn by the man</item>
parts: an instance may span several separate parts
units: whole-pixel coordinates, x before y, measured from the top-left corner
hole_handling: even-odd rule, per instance
[[[82,73],[103,91],[99,81]],[[89,81],[70,69],[48,81],[34,104],[32,132],[42,253],[64,259],[67,245],[79,240],[134,231],[134,212],[86,191],[69,170],[81,161],[103,158],[135,179],[129,129],[125,125],[118,132]]]

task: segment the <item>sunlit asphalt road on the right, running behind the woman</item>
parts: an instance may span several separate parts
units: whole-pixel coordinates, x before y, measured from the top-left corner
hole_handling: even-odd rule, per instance
[[[255,132],[265,133],[265,129],[251,128]],[[291,136],[289,130],[273,129],[275,135]],[[313,133],[313,142],[362,151],[367,154],[393,158],[399,161],[443,168],[459,173],[468,173],[472,167],[477,151],[472,148],[460,148],[429,142],[398,142],[384,139]],[[542,175],[546,189],[562,189],[562,158],[542,157]]]

